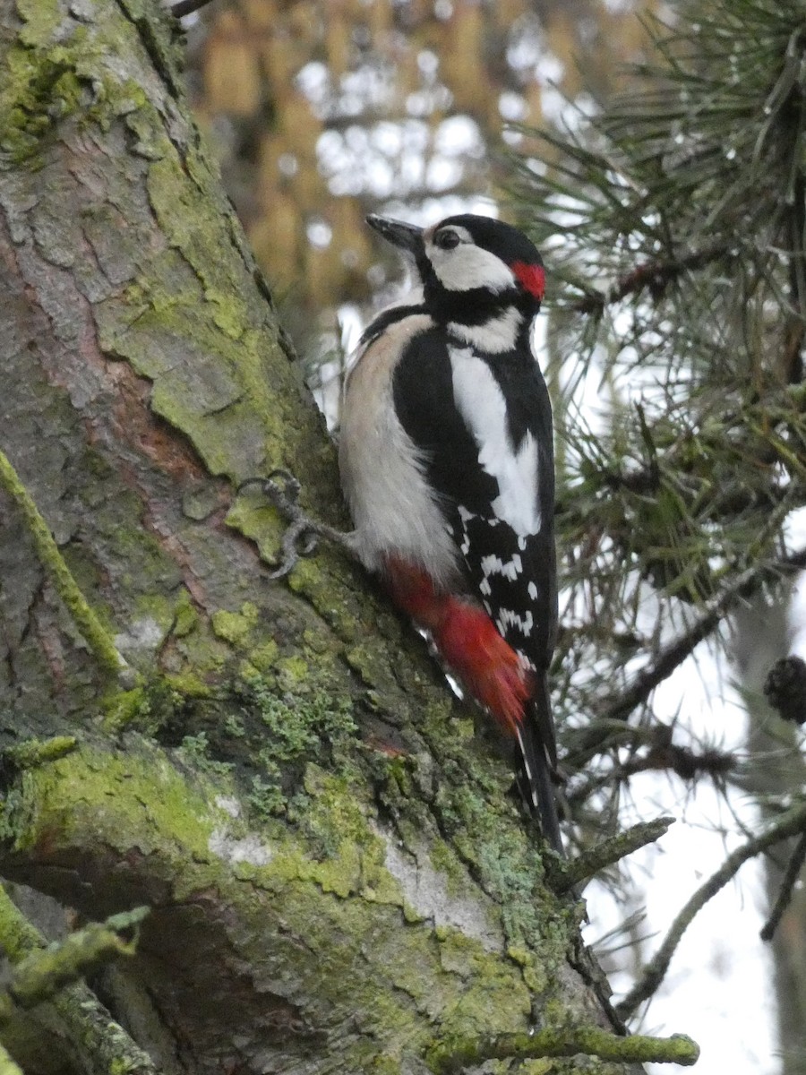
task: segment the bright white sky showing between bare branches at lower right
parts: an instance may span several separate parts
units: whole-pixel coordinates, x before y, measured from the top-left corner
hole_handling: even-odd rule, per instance
[[[688,722],[695,733],[710,737],[721,730],[724,749],[742,748],[746,717],[735,691],[725,683],[724,666],[706,644],[659,689],[654,706],[661,719],[672,720],[685,699]],[[625,823],[661,814],[678,818],[657,844],[630,859],[631,874],[646,908],[641,934],[648,936],[643,958],[651,958],[663,942],[677,913],[722,864],[744,837],[735,834],[731,809],[703,779],[689,791],[675,777],[642,774],[631,780],[632,806]],[[730,806],[750,827],[757,825],[754,806],[733,794]],[[721,826],[729,831],[724,836]],[[586,940],[596,937],[623,919],[602,886],[587,891],[591,923]],[[702,1049],[696,1071],[722,1075],[776,1075],[775,1012],[768,946],[759,938],[764,923],[765,897],[760,864],[747,862],[700,912],[678,946],[667,976],[656,997],[643,1008],[636,1031],[670,1035],[689,1034]],[[622,959],[631,969],[631,955]],[[631,973],[610,975],[618,1001],[632,986]],[[653,1075],[676,1069],[649,1065]]]

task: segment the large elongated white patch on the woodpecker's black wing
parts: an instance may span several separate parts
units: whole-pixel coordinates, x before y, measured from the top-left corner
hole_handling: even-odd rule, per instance
[[[469,348],[450,347],[454,398],[478,447],[478,461],[499,484],[492,510],[520,536],[541,529],[537,505],[537,443],[527,433],[513,449],[506,402],[490,368]]]

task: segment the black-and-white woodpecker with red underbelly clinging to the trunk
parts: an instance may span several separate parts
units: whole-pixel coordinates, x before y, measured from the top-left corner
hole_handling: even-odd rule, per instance
[[[364,331],[345,387],[351,546],[517,741],[518,785],[562,854],[548,669],[557,633],[551,405],[531,348],[545,274],[516,228],[369,216],[414,291]]]

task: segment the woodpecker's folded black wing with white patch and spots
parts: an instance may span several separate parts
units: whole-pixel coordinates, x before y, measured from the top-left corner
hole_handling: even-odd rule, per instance
[[[467,586],[537,673],[557,630],[548,392],[531,354],[479,356],[440,330],[394,374],[398,416],[443,498]],[[442,405],[452,401],[447,408]]]

